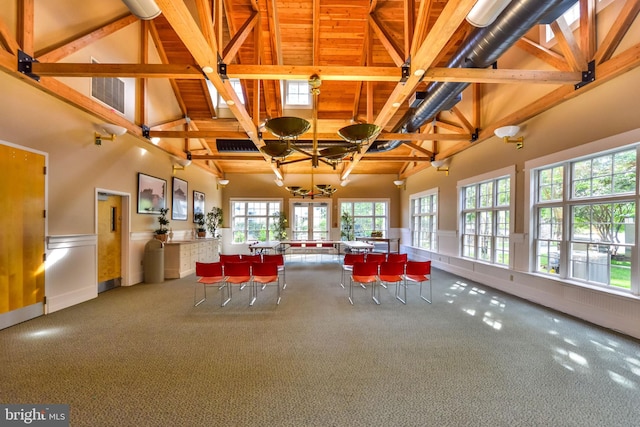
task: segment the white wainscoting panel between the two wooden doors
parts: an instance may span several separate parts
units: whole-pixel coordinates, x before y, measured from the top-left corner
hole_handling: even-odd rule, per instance
[[[98,236],[48,236],[45,263],[45,313],[98,296]]]

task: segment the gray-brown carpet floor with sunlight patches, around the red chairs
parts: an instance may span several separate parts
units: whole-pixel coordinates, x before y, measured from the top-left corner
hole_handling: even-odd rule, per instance
[[[435,270],[409,289],[339,286],[289,262],[287,288],[194,277],[117,288],[0,331],[0,402],[69,404],[72,426],[635,426],[637,340]]]

